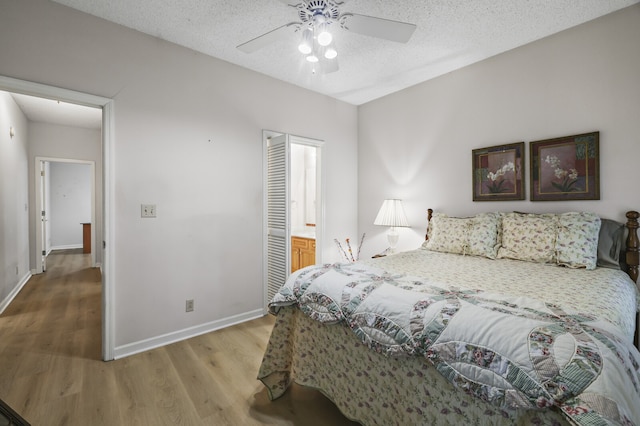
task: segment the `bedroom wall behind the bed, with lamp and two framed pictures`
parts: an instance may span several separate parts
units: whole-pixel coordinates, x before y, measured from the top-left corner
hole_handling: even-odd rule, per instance
[[[384,198],[401,198],[411,229],[399,249],[424,240],[426,210],[590,210],[626,221],[640,209],[640,5],[569,29],[359,108],[359,229],[363,253],[383,250],[373,226]],[[600,131],[599,201],[473,202],[471,151]]]

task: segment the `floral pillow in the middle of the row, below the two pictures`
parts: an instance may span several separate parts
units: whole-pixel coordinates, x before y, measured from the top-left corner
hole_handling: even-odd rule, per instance
[[[558,222],[553,214],[505,213],[498,258],[555,263]]]

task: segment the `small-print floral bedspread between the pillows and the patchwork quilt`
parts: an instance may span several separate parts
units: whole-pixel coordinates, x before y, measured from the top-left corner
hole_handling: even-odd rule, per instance
[[[640,295],[629,276],[608,268],[563,268],[520,260],[491,260],[417,249],[361,261],[393,273],[428,277],[443,285],[525,296],[609,321],[633,341]]]

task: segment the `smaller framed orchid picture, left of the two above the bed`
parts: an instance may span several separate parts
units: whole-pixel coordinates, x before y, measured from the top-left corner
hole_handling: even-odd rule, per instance
[[[473,201],[524,200],[524,142],[473,150]]]

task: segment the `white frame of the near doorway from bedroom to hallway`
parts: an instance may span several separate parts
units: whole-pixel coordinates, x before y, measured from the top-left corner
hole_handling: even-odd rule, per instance
[[[0,90],[102,109],[102,359],[110,361],[114,359],[115,348],[114,101],[102,96],[1,75]]]

